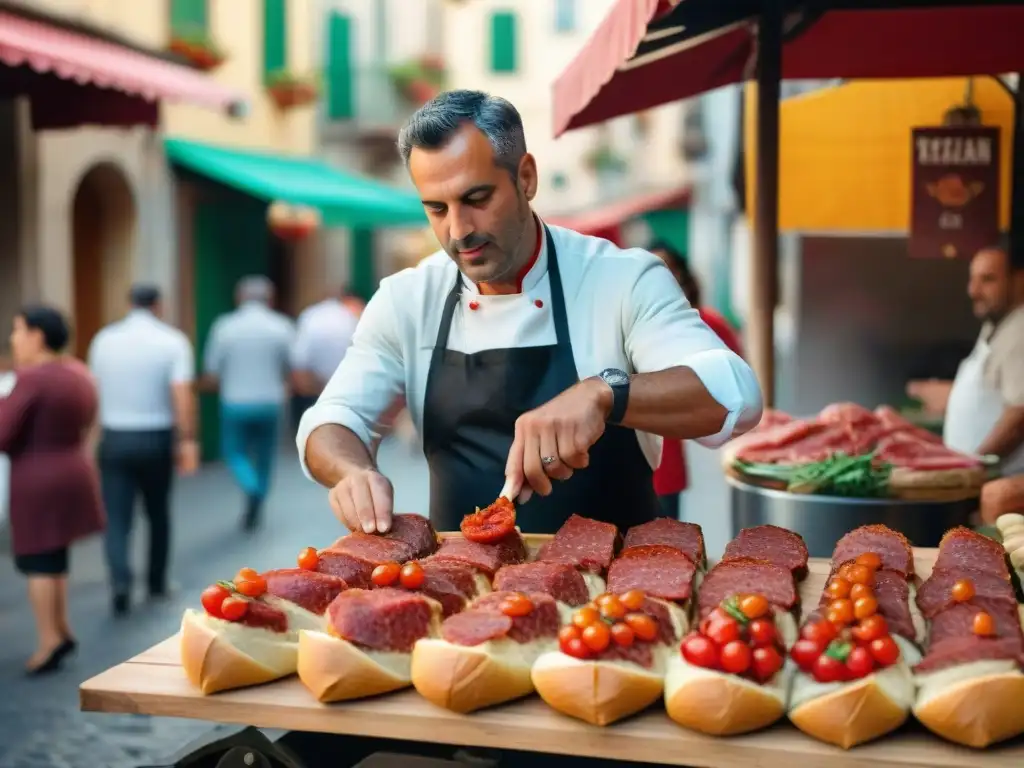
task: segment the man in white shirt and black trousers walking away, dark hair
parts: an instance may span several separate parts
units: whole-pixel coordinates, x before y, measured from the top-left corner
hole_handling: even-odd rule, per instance
[[[102,329],[89,347],[99,389],[99,471],[116,615],[131,606],[135,500],[141,497],[150,523],[150,596],[162,598],[168,592],[175,465],[190,474],[199,464],[193,346],[161,319],[157,288],[135,286],[130,298],[127,316]]]

